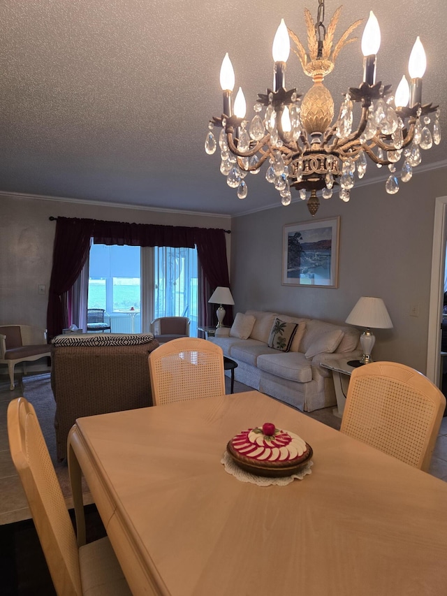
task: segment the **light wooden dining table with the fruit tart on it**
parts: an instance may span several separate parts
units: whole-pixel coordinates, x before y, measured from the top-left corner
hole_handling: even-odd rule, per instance
[[[312,446],[311,474],[226,472],[265,422]],[[82,469],[134,595],[447,594],[447,483],[258,391],[80,418],[68,453],[80,525]]]

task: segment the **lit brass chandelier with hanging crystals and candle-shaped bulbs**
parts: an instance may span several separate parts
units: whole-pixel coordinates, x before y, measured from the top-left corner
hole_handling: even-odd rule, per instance
[[[337,8],[326,28],[324,0],[318,0],[316,23],[305,8],[308,53],[298,36],[286,27],[284,19],[281,20],[273,41],[273,89],[268,89],[267,94],[258,94],[250,123],[245,119],[246,103],[241,87],[233,105],[235,73],[228,54],[223,59],[220,76],[223,114],[210,120],[205,151],[207,154],[216,152],[213,129],[221,127],[220,170],[228,186],[237,189],[239,198],[247,196],[247,174],[257,174],[268,161],[265,179],[279,191],[281,203],[291,203],[291,189],[295,188],[300,198],[307,200],[309,212],[315,215],[319,206],[318,191],[323,198],[330,198],[338,186],[339,197],[349,201],[354,175],[357,173],[358,178],[365,175],[367,157],[378,168],[388,166],[390,175],[385,187],[389,194],[395,194],[399,191],[397,161],[402,158],[400,180],[408,182],[413,168],[421,161],[420,150],[430,149],[433,143],[439,145],[439,108],[431,103],[422,104],[426,60],[420,39],[416,38],[409,58],[411,81],[409,83],[404,75],[393,96],[390,85],[376,82],[380,29],[372,12],[362,35],[362,83],[346,92],[339,116],[332,124],[334,101],[323,80],[334,69],[340,50],[357,40],[351,34],[362,23],[358,20],[351,24],[334,44],[341,10],[341,6]],[[300,59],[303,71],[314,82],[303,98],[296,89],[286,90],[290,40],[295,44],[293,52]],[[360,105],[357,129],[353,129],[354,103]],[[432,112],[434,122],[430,131],[427,125]]]

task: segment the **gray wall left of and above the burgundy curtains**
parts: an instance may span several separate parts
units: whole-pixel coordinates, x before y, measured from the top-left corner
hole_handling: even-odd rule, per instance
[[[86,217],[138,224],[231,228],[229,217],[105,207],[68,201],[0,196],[0,324],[46,327],[57,217]],[[227,247],[230,254],[230,234]],[[45,294],[38,285],[45,284]]]

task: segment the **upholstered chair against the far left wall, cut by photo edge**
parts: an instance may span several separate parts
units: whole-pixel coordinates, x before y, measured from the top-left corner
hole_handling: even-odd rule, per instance
[[[47,331],[32,325],[0,326],[0,364],[8,365],[9,388],[14,388],[14,368],[22,363],[25,372],[26,362],[35,362],[45,356],[50,357],[47,344]]]

